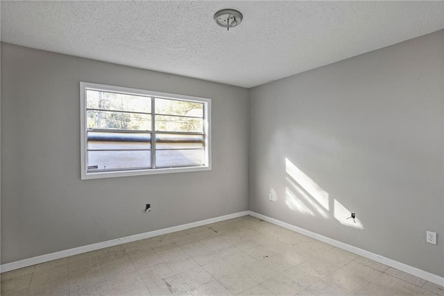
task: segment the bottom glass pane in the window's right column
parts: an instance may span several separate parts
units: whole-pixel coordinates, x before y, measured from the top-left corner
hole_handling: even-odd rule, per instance
[[[155,163],[157,167],[203,165],[203,159],[203,149],[155,151]]]

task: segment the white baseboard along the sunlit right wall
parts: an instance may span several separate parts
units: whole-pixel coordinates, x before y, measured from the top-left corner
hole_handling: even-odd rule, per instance
[[[424,270],[420,270],[419,268],[414,268],[413,266],[400,263],[398,261],[395,261],[390,258],[386,258],[384,256],[380,256],[378,254],[368,252],[365,249],[360,249],[359,247],[354,247],[352,245],[348,245],[344,242],[340,242],[338,240],[334,240],[332,238],[327,238],[326,236],[321,236],[321,234],[314,233],[311,231],[308,231],[306,229],[302,229],[300,227],[296,227],[294,225],[288,224],[286,222],[282,222],[280,220],[276,220],[274,218],[258,214],[252,211],[248,211],[248,215],[257,217],[259,219],[262,219],[266,222],[270,222],[273,224],[276,224],[280,227],[284,227],[286,229],[289,229],[291,231],[298,232],[300,234],[303,234],[304,236],[308,236],[310,238],[314,238],[316,240],[321,240],[321,242],[325,242],[329,245],[334,245],[334,247],[339,247],[340,249],[345,249],[345,251],[352,252],[354,254],[357,254],[359,256],[363,256],[365,258],[371,259],[373,261],[385,264],[387,266],[390,266],[391,268],[396,268],[397,270],[401,270],[403,272],[407,272],[409,274],[414,275],[415,277],[419,277],[421,279],[425,279],[426,281],[431,281],[432,283],[436,283],[438,285],[444,286],[444,277],[439,277],[436,274],[432,274],[430,272],[426,272]]]

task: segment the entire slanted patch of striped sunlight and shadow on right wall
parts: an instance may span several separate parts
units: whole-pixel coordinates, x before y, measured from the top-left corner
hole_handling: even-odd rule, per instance
[[[330,200],[328,192],[307,174],[285,158],[286,188],[285,203],[291,211],[305,215],[321,215],[325,219],[334,217],[339,223],[356,229],[364,229],[362,222],[350,217],[350,211],[336,199]],[[350,217],[350,218],[348,218]]]

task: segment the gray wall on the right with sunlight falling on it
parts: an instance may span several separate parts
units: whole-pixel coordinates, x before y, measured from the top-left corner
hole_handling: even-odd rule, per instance
[[[250,210],[444,276],[443,38],[251,89]]]

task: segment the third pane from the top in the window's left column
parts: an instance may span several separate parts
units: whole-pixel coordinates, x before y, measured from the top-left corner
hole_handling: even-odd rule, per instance
[[[101,133],[88,131],[88,150],[151,149],[150,133]]]

